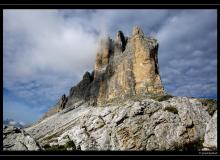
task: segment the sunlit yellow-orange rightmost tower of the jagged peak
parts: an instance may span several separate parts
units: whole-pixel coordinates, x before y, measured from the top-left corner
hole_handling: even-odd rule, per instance
[[[134,54],[133,73],[136,93],[163,93],[158,67],[157,41],[144,37],[143,31],[135,27],[131,45]]]

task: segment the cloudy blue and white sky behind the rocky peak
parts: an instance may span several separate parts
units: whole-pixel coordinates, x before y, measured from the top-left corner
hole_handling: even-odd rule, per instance
[[[3,118],[33,123],[92,71],[100,37],[140,26],[167,93],[217,98],[217,10],[3,11]]]

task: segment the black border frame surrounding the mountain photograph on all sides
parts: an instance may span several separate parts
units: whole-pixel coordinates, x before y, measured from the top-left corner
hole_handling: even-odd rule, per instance
[[[183,5],[176,5],[176,4],[169,4],[169,5],[157,5],[157,4],[7,4],[7,5],[1,5],[1,21],[2,21],[2,34],[3,34],[3,10],[4,9],[217,9],[217,28],[219,28],[219,16],[220,16],[220,10],[219,5],[215,4],[201,4],[201,5],[192,5],[192,4],[183,4]],[[217,32],[217,46],[219,47],[219,32]],[[2,52],[3,52],[3,35],[2,35]],[[217,59],[219,59],[219,48],[217,48]],[[3,55],[3,53],[2,53]],[[3,64],[3,58],[2,58],[2,64]],[[217,63],[217,67],[219,67],[219,64]],[[3,73],[3,68],[2,68]],[[4,73],[3,73],[4,74]],[[217,73],[217,76],[219,76],[219,73]],[[219,79],[219,77],[218,77]],[[220,90],[218,82],[217,82],[217,88],[218,91]],[[2,77],[2,91],[3,91],[3,77]],[[2,95],[3,98],[3,95]],[[219,95],[217,98],[217,103],[219,106]],[[3,104],[3,99],[2,99]],[[2,116],[2,123],[3,123],[3,107],[1,108],[1,116]],[[219,129],[219,113],[218,113],[218,129]],[[2,128],[1,128],[1,134],[2,134]],[[218,132],[219,135],[219,132]],[[218,136],[219,137],[219,136]],[[2,138],[2,136],[1,136]],[[158,152],[152,152],[152,151],[65,151],[65,152],[49,152],[49,151],[3,151],[3,143],[1,143],[1,151],[0,156],[158,156],[158,158],[163,158],[167,156],[185,156],[187,159],[189,157],[193,156],[194,158],[199,158],[201,156],[204,157],[211,157],[211,159],[215,158],[216,156],[219,156],[219,141],[220,138],[218,138],[218,151],[217,152],[210,152],[210,151],[202,151],[202,152],[182,152],[182,151],[158,151]],[[3,140],[2,140],[3,142]],[[42,154],[42,155],[40,155]]]

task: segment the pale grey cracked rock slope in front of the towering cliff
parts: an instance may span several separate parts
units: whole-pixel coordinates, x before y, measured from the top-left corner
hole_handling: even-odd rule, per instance
[[[217,150],[216,103],[165,99],[104,107],[77,103],[25,131],[44,150]]]

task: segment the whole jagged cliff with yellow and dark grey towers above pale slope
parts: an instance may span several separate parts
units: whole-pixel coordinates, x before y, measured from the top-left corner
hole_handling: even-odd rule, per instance
[[[158,43],[134,27],[130,37],[118,31],[115,40],[103,38],[93,73],[86,72],[72,87],[66,107],[77,101],[102,105],[133,96],[165,94],[158,66]]]

